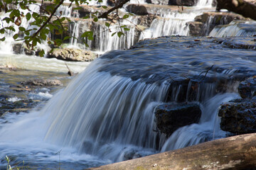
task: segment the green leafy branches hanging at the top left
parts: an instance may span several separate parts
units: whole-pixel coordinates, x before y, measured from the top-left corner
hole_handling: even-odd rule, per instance
[[[69,8],[73,10],[80,10],[82,4],[89,4],[92,0],[70,0]],[[96,0],[95,0],[96,1]],[[128,1],[128,0],[127,0]],[[12,35],[14,40],[22,41],[26,43],[26,47],[29,50],[35,50],[38,45],[43,41],[47,42],[48,45],[60,46],[63,41],[72,38],[71,36],[61,36],[61,38],[50,39],[48,36],[50,33],[55,35],[64,35],[68,32],[68,24],[70,18],[62,16],[62,12],[56,13],[57,9],[62,5],[64,0],[42,0],[41,4],[38,1],[33,0],[4,0],[0,1],[0,11],[6,13],[5,17],[0,18],[0,40],[6,40],[5,35]],[[96,3],[100,3],[102,0],[97,0]],[[33,11],[33,8],[38,6],[40,11]],[[107,6],[100,6],[100,8],[107,9]],[[111,12],[110,12],[111,11]],[[106,14],[106,13],[104,13]],[[114,12],[113,8],[107,11],[107,21],[105,26],[110,29],[114,21],[119,19],[127,19],[132,14],[125,14],[122,17],[118,16],[118,11]],[[105,18],[99,16],[98,12],[90,13],[90,16],[85,16],[83,19],[92,18],[93,22],[98,22],[99,18]],[[25,20],[29,23],[29,26],[23,26]],[[119,31],[112,33],[112,36],[117,33],[118,37],[124,35],[124,32],[129,30],[127,26],[121,26],[119,24]],[[2,35],[2,36],[1,36]],[[82,41],[87,45],[87,40],[93,40],[93,30],[85,31],[82,33]],[[41,50],[40,56],[43,56],[45,52]]]

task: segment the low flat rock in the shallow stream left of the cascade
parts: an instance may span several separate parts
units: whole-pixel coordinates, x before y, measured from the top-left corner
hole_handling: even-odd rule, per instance
[[[22,85],[26,86],[63,86],[58,79],[33,79],[28,81],[22,81]]]

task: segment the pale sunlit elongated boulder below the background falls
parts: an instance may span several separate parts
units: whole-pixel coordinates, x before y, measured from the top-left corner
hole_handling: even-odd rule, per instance
[[[48,54],[49,58],[57,58],[65,61],[90,62],[97,58],[94,52],[74,48],[55,48]]]

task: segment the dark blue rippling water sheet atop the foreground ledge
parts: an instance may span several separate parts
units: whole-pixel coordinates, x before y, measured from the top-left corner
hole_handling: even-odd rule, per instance
[[[161,84],[164,81],[171,84],[186,79],[241,80],[255,75],[255,50],[230,48],[219,43],[220,40],[235,40],[256,46],[256,42],[252,41],[254,37],[225,39],[171,36],[149,39],[138,42],[130,50],[102,55],[100,58],[105,63],[99,71],[130,77],[134,81],[139,79],[149,84]]]

